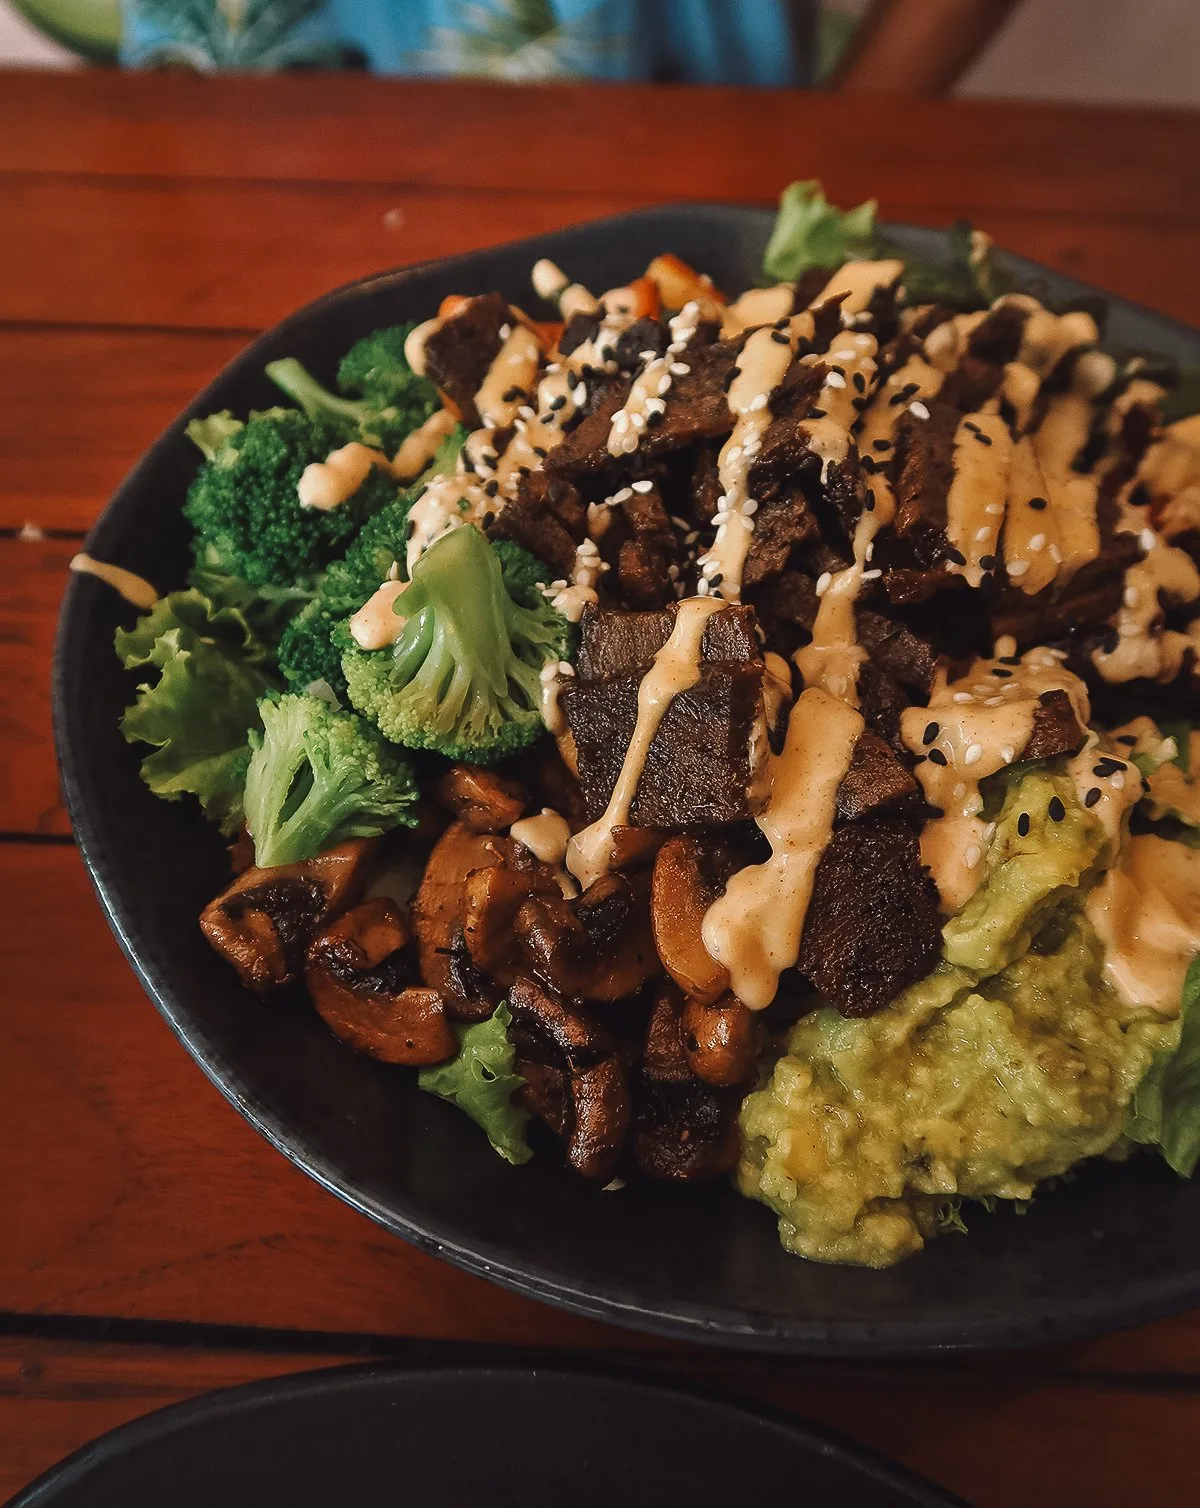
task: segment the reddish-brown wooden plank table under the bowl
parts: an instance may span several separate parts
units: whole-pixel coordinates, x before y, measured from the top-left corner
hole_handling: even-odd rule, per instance
[[[764,1362],[540,1307],[338,1203],[205,1081],[118,953],[59,802],[48,680],[63,567],[122,472],[253,332],[335,284],[820,176],[897,219],[966,213],[1200,323],[1200,118],[0,74],[0,1496],[210,1387],[475,1341],[772,1399],[989,1508],[1195,1502],[1195,1315],[947,1363]]]

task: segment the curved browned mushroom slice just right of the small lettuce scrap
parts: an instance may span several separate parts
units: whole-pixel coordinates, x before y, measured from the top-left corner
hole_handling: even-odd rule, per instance
[[[531,979],[514,980],[508,992],[513,1038],[522,1062],[544,1063],[546,1102],[565,1089],[558,1117],[565,1137],[567,1166],[583,1178],[612,1178],[630,1122],[629,1075],[612,1036],[585,1012],[564,1004]],[[547,1116],[549,1119],[549,1116]]]

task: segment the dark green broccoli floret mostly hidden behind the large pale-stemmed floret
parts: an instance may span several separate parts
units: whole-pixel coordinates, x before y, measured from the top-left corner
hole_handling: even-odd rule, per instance
[[[342,651],[344,635],[335,630],[351,612],[357,612],[396,564],[404,572],[404,546],[409,538],[409,511],[413,502],[439,472],[454,470],[466,431],[446,439],[428,470],[416,483],[368,519],[345,558],[333,561],[317,585],[317,596],[292,618],[279,642],[279,668],[289,686],[302,689],[324,682],[336,697],[345,700]],[[513,546],[517,550],[517,546]],[[517,550],[528,561],[531,555]],[[546,581],[546,567],[538,566]],[[516,596],[516,593],[514,593]],[[519,599],[520,600],[520,599]]]

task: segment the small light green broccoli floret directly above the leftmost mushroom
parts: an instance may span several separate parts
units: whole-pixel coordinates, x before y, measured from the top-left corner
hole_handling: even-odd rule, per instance
[[[348,838],[412,826],[413,772],[353,712],[320,697],[267,697],[250,734],[246,826],[262,869],[315,858]]]

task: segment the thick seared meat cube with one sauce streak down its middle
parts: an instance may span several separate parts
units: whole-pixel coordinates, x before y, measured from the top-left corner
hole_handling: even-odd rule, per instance
[[[638,688],[666,642],[674,614],[592,612],[583,618],[576,676],[559,703],[574,737],[589,820],[621,774],[638,722]],[[699,680],[666,707],[642,765],[632,826],[686,828],[751,817],[763,756],[763,662],[746,608],[713,614]]]

